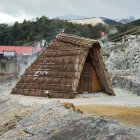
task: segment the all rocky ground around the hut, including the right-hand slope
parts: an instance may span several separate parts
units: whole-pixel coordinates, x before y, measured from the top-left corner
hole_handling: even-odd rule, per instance
[[[116,96],[104,93],[82,94],[76,99],[58,101],[10,95],[18,79],[13,76],[0,76],[0,139],[139,140],[139,46],[140,40],[133,40],[102,50],[113,85],[117,87],[114,88]],[[78,106],[79,110],[75,111],[71,106],[66,109],[63,102],[71,102]],[[84,114],[81,114],[80,109],[83,109]],[[101,116],[107,116],[108,119]],[[126,124],[135,123],[131,126],[121,124],[122,118],[127,120]]]

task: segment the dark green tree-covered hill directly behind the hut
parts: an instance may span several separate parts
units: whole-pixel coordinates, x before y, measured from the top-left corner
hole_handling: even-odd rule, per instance
[[[43,16],[36,20],[24,20],[23,23],[16,22],[12,26],[0,24],[0,45],[23,45],[40,39],[50,41],[60,28],[64,28],[66,33],[93,39],[99,38],[101,31],[108,33],[108,26],[103,24],[81,25]]]

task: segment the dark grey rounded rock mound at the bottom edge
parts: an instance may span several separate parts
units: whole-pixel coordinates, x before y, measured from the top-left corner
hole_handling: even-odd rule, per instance
[[[117,123],[111,123],[104,121],[100,118],[83,118],[80,121],[91,120],[91,123],[76,125],[77,121],[70,123],[68,126],[60,128],[60,130],[53,135],[49,136],[48,140],[133,140],[135,134],[132,134],[132,130],[124,130],[124,126],[118,126]],[[79,120],[78,120],[79,122]],[[95,124],[93,127],[93,123]],[[99,127],[101,125],[101,127]],[[73,130],[73,131],[71,131]]]

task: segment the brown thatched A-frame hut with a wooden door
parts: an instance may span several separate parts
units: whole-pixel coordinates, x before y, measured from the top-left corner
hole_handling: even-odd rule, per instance
[[[92,39],[58,34],[26,69],[12,94],[74,98],[78,93],[104,91],[115,95],[100,48]]]

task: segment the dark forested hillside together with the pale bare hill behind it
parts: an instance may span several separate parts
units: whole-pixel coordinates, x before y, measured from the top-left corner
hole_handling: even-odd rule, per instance
[[[108,34],[115,28],[117,35],[133,29],[133,24],[138,26],[139,20],[128,26],[104,17],[67,21],[43,16],[35,20],[24,20],[22,23],[15,22],[13,25],[0,24],[0,45],[31,45],[41,39],[49,42],[62,28],[67,34],[99,39],[100,32]]]

